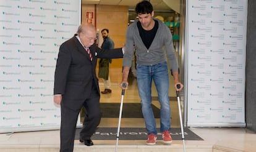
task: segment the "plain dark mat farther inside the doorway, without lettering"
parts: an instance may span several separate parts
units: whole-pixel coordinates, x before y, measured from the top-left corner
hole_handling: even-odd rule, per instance
[[[100,103],[100,110],[102,118],[119,118],[121,103]],[[84,112],[81,113],[81,116],[85,116]],[[155,118],[160,118],[160,109],[152,104],[152,110]],[[142,106],[140,103],[123,103],[122,105],[122,118],[143,118],[142,115]]]

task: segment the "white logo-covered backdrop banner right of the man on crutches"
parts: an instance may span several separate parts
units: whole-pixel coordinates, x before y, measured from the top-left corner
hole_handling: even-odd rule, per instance
[[[245,126],[247,1],[187,1],[187,126]]]

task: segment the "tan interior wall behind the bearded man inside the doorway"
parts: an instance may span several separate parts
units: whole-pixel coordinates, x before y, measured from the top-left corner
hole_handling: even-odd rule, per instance
[[[109,36],[114,41],[114,47],[122,47],[126,42],[128,22],[128,6],[82,5],[82,23],[86,21],[86,13],[93,13],[93,24],[99,33],[99,47],[103,42],[101,30],[108,28]],[[110,68],[122,68],[122,59],[114,59]]]

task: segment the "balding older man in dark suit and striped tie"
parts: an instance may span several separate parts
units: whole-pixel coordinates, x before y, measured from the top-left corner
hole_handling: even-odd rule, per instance
[[[54,75],[54,103],[61,105],[61,152],[74,150],[77,117],[82,106],[87,111],[80,142],[92,146],[92,135],[100,124],[100,88],[96,78],[97,58],[122,58],[123,50],[100,49],[94,43],[93,25],[79,26],[77,33],[62,43]]]

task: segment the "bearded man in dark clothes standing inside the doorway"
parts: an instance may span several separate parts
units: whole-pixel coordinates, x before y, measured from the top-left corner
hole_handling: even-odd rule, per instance
[[[109,38],[109,30],[106,28],[101,30],[101,35],[103,38],[101,49],[114,49],[114,42],[111,38]],[[101,94],[111,94],[112,92],[110,89],[111,83],[109,78],[109,63],[111,63],[111,59],[100,58],[98,77],[103,79],[105,87],[105,90],[101,91]]]

